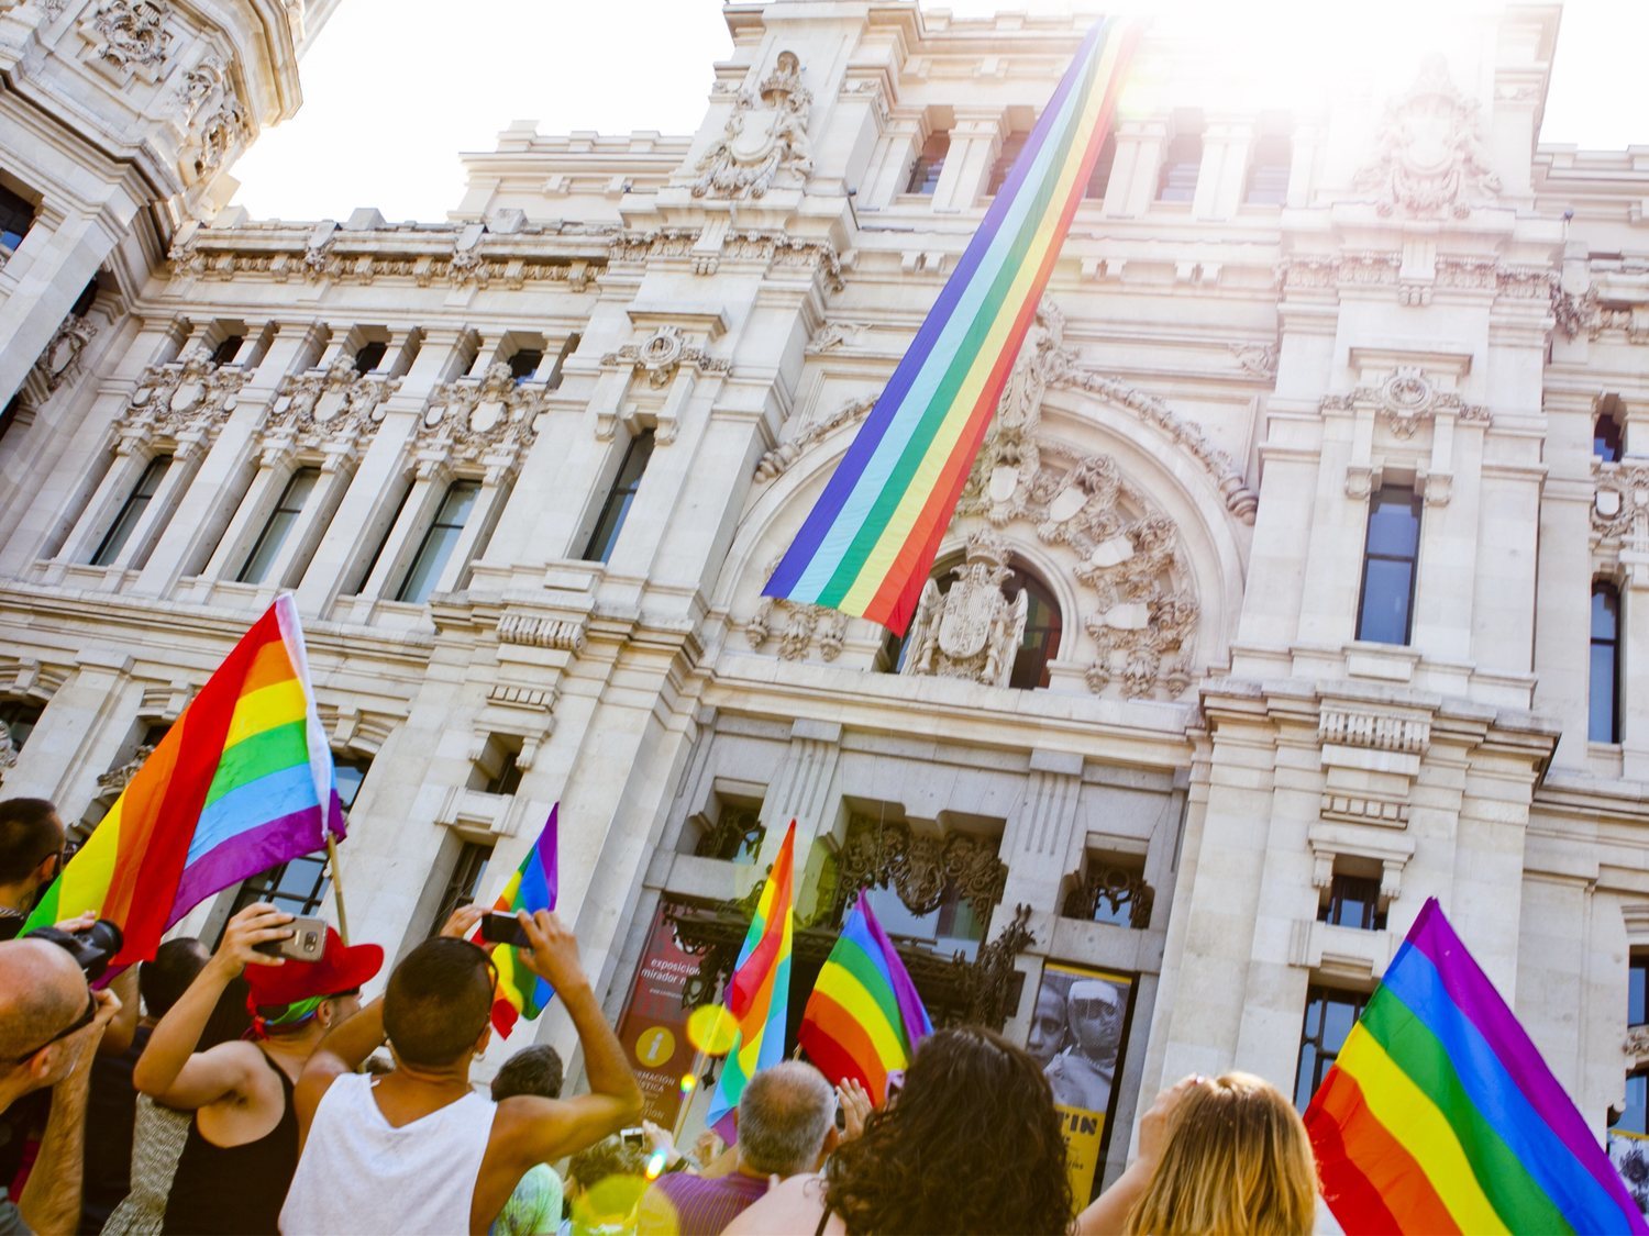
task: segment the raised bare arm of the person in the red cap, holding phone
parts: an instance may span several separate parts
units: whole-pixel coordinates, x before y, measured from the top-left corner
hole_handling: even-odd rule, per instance
[[[241,1089],[249,1071],[244,1051],[214,1048],[196,1053],[195,1048],[223,989],[242,969],[280,964],[279,957],[265,956],[256,946],[290,936],[285,928],[290,921],[292,915],[264,903],[251,905],[229,920],[211,961],[148,1037],[148,1046],[132,1070],[132,1084],[139,1091],[167,1107],[193,1111]]]

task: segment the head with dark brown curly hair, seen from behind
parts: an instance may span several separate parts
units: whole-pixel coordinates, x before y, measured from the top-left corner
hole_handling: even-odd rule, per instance
[[[1070,1224],[1054,1094],[983,1027],[922,1040],[904,1088],[824,1163],[848,1231],[1049,1233]]]

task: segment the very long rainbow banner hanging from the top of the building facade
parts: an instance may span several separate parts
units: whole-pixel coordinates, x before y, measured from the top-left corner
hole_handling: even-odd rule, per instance
[[[1100,21],[765,595],[904,634],[1087,190],[1138,41]]]

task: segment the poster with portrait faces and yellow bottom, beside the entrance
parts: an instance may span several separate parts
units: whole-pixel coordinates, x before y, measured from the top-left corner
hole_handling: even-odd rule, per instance
[[[1105,1152],[1131,999],[1130,974],[1054,962],[1042,967],[1026,1050],[1054,1089],[1070,1193],[1078,1210],[1093,1193]]]

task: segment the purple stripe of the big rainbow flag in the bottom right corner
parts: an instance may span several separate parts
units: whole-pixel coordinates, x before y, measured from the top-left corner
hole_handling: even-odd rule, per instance
[[[1420,916],[1408,929],[1407,943],[1431,959],[1449,999],[1478,1027],[1478,1032],[1494,1048],[1494,1055],[1501,1058],[1506,1071],[1520,1083],[1524,1098],[1529,1099],[1535,1116],[1550,1126],[1568,1152],[1586,1165],[1586,1170],[1621,1208],[1629,1229],[1646,1231],[1642,1215],[1626,1192],[1626,1185],[1621,1183],[1614,1163],[1593,1137],[1586,1119],[1575,1107],[1568,1091],[1552,1076],[1552,1070],[1547,1068],[1529,1033],[1506,1007],[1506,1000],[1479,969],[1471,951],[1454,934],[1454,928],[1449,926],[1435,897],[1426,898],[1420,908]]]

